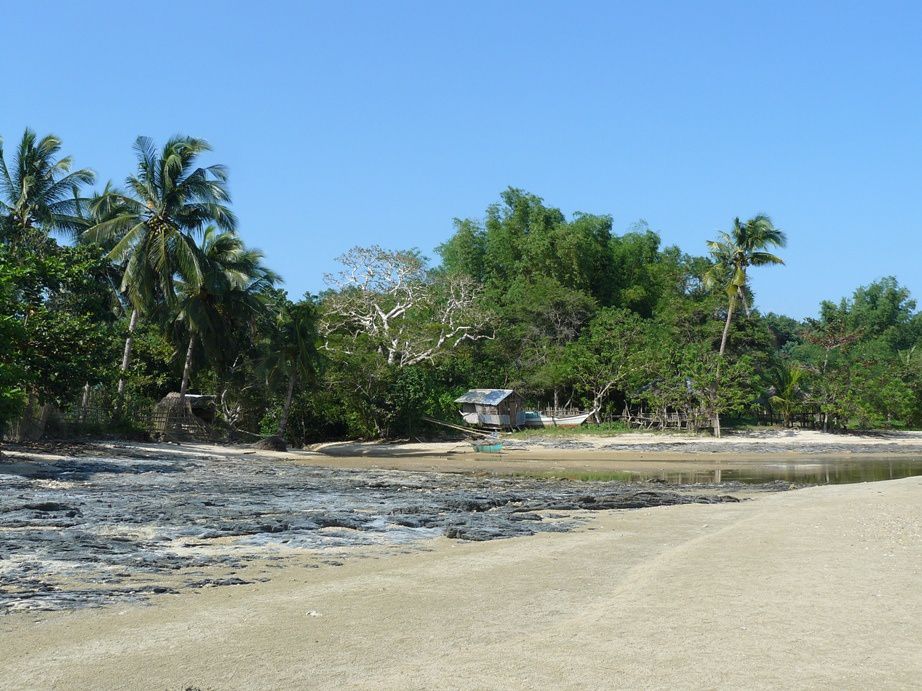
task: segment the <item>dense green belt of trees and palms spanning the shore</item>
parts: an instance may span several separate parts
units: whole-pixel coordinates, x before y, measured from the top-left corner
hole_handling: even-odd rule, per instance
[[[53,405],[74,429],[143,431],[178,391],[213,395],[235,438],[413,435],[424,416],[455,422],[473,387],[717,433],[922,425],[908,291],[884,278],[816,319],[761,314],[749,272],[782,264],[786,241],[763,215],[693,256],[508,189],[455,221],[438,266],[357,247],[292,301],[203,140],[139,138],[137,169],[95,193],[60,150],[31,131],[0,148],[0,427]]]

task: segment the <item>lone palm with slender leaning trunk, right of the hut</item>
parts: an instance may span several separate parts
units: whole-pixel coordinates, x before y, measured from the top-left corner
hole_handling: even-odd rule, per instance
[[[743,308],[747,316],[749,315],[749,301],[746,297],[749,288],[749,267],[784,264],[781,257],[768,252],[767,248],[784,247],[787,237],[774,226],[768,216],[759,214],[745,223],[739,218],[733,219],[733,227],[729,233],[722,231],[717,240],[709,240],[707,244],[713,264],[704,276],[705,286],[719,286],[727,295],[727,318],[720,337],[720,353],[713,391],[716,399],[716,387],[720,385],[720,362],[727,349],[727,337],[730,334],[730,323],[737,300],[743,303]],[[720,436],[720,413],[716,410],[714,434]]]

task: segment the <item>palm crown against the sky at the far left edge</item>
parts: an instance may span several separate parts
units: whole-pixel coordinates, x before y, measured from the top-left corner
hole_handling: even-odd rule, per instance
[[[40,246],[52,231],[73,233],[80,227],[82,188],[96,175],[88,168],[71,171],[73,159],[57,158],[60,151],[55,135],[39,139],[26,129],[8,164],[0,139],[0,241]]]

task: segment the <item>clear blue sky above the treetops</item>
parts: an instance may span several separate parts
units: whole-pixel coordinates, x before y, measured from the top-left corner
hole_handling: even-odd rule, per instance
[[[507,186],[704,253],[772,216],[764,311],[922,299],[922,3],[0,3],[0,134],[101,181],[208,139],[292,295],[354,245],[433,248]]]

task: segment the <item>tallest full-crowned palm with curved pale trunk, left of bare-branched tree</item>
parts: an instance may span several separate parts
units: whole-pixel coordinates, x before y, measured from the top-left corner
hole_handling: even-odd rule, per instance
[[[138,317],[158,301],[172,306],[176,279],[187,286],[203,281],[195,234],[209,223],[233,231],[237,219],[227,207],[227,169],[197,167],[198,157],[211,150],[204,139],[176,136],[158,151],[148,137],[134,143],[137,172],[126,189],[109,189],[92,205],[98,222],[83,238],[111,246],[109,257],[124,262],[121,291],[132,305],[128,336],[118,384],[118,407],[125,390],[125,373]]]

